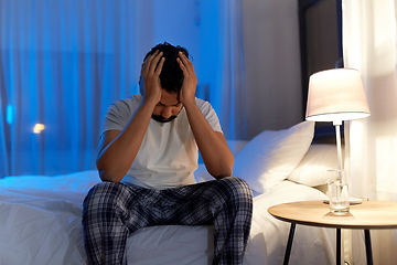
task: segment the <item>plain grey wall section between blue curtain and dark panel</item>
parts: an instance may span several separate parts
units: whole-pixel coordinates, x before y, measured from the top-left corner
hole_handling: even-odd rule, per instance
[[[303,120],[298,0],[243,1],[247,136]]]

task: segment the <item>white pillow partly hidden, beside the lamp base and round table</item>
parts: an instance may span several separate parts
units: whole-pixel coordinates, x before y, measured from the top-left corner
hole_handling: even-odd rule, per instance
[[[288,179],[310,187],[321,186],[328,183],[330,176],[326,171],[336,168],[336,145],[311,145]]]

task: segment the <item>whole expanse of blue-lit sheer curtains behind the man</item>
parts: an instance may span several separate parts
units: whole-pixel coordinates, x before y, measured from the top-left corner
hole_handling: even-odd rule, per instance
[[[95,169],[108,106],[138,93],[144,54],[164,41],[187,47],[225,136],[243,139],[240,6],[0,0],[0,178]]]

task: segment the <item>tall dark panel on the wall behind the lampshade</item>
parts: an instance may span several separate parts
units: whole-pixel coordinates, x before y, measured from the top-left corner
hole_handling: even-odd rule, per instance
[[[342,0],[298,0],[298,3],[301,86],[305,106],[310,75],[319,71],[343,67]],[[324,139],[335,140],[335,128],[332,123],[316,123],[314,140]]]

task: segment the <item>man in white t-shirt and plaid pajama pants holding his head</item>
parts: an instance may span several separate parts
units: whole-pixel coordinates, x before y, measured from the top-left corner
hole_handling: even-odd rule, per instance
[[[152,225],[214,224],[213,264],[243,264],[253,211],[247,183],[232,176],[234,157],[185,49],[154,46],[141,70],[140,94],[105,117],[97,168],[104,181],[84,201],[89,264],[127,264],[127,236]],[[200,150],[216,179],[195,184]]]

